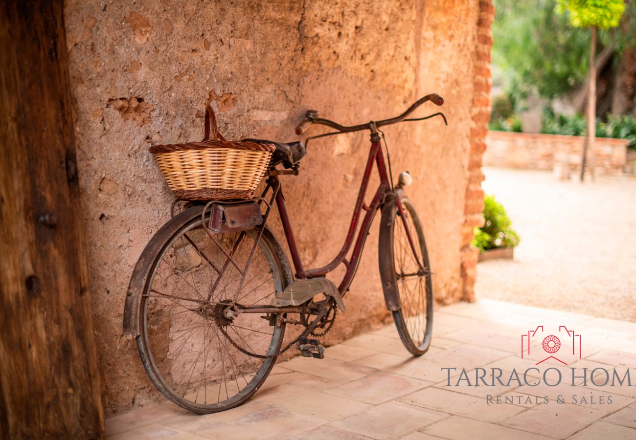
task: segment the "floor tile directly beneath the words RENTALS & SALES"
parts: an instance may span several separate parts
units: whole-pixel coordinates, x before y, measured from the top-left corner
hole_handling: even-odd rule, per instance
[[[564,439],[602,416],[601,411],[586,406],[550,402],[513,416],[502,425]]]

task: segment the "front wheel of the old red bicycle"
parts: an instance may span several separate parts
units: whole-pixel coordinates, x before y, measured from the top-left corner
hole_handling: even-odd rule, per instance
[[[393,320],[411,354],[423,355],[431,345],[433,291],[424,230],[406,196],[386,203],[380,224],[380,275],[383,285],[395,287],[399,308]],[[400,212],[401,211],[401,212]],[[412,243],[412,246],[411,246]]]

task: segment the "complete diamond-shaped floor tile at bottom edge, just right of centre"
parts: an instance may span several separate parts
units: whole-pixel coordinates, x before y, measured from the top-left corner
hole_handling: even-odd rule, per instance
[[[446,417],[447,414],[439,411],[386,402],[331,426],[373,439],[397,439]]]

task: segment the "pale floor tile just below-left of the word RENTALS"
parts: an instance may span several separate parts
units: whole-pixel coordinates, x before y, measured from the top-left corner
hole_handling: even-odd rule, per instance
[[[480,397],[434,387],[424,388],[424,390],[405,395],[397,400],[424,408],[476,418],[485,422],[501,422],[525,411],[525,408],[521,406],[497,405],[495,407],[487,404],[486,399]]]

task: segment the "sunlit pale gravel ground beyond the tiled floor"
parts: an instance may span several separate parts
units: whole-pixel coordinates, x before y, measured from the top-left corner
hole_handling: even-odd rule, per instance
[[[515,259],[477,266],[477,298],[636,322],[636,178],[558,181],[551,172],[484,168],[486,194],[522,241]]]

